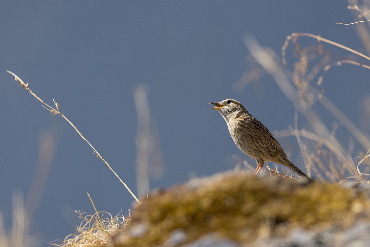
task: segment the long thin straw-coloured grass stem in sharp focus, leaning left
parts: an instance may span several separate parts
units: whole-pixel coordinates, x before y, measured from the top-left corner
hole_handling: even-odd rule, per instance
[[[16,74],[14,74],[13,72],[10,72],[7,70],[8,73],[12,74],[14,76],[14,78],[16,79],[17,82],[19,82],[19,84],[21,85],[21,87],[23,87],[24,89],[26,89],[28,92],[30,92],[30,94],[32,94],[35,98],[37,98],[43,105],[43,107],[45,109],[47,109],[51,115],[54,117],[55,115],[59,114],[61,117],[63,117],[74,129],[75,131],[77,131],[77,133],[81,136],[82,139],[84,139],[88,145],[91,146],[92,149],[94,149],[94,153],[97,154],[97,157],[98,159],[100,158],[101,160],[104,161],[105,165],[108,166],[109,169],[111,169],[111,171],[114,173],[114,175],[121,181],[121,183],[126,187],[126,189],[128,190],[128,192],[134,197],[134,199],[140,204],[139,200],[137,199],[137,197],[135,196],[134,193],[132,193],[132,191],[129,189],[129,187],[126,185],[125,182],[123,182],[123,180],[117,175],[117,173],[115,173],[115,171],[111,168],[111,166],[108,164],[108,162],[106,162],[102,156],[100,155],[100,153],[98,153],[98,151],[90,144],[90,142],[87,141],[87,139],[81,134],[80,131],[78,131],[78,129],[76,128],[76,126],[74,126],[74,124],[72,124],[72,122],[66,117],[64,116],[61,112],[60,112],[60,108],[59,108],[59,104],[57,102],[55,102],[55,100],[53,99],[54,101],[54,104],[55,104],[55,107],[57,109],[54,109],[53,107],[51,107],[50,105],[46,104],[42,99],[40,99],[39,97],[37,97],[37,95],[31,91],[30,88],[28,88],[28,83],[24,83]]]

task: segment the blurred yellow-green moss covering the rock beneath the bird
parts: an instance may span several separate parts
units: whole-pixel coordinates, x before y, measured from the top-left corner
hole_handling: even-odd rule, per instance
[[[215,232],[235,241],[252,241],[261,234],[277,234],[284,225],[348,227],[368,210],[366,197],[354,196],[336,184],[301,185],[290,180],[227,173],[179,185],[164,193],[149,194],[131,215],[131,228],[145,224],[141,237],[128,237],[116,246],[155,246],[175,229],[187,233],[186,241]]]

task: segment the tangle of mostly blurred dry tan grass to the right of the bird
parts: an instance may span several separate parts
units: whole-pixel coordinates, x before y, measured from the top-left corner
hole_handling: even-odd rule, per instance
[[[348,9],[352,12],[355,21],[367,20],[369,18],[368,1],[361,3],[358,7],[357,1],[349,1]],[[369,22],[354,24],[360,40],[364,44],[366,54],[370,54]],[[312,40],[311,45],[302,46],[300,40],[307,38]],[[321,35],[308,33],[293,33],[287,36],[282,47],[282,56],[279,57],[270,48],[260,47],[254,37],[245,37],[245,44],[250,51],[248,61],[251,66],[246,70],[239,81],[233,85],[236,91],[252,84],[257,92],[260,90],[259,81],[264,74],[273,77],[285,96],[292,102],[296,109],[295,124],[287,130],[275,131],[276,136],[295,136],[302,153],[303,161],[308,175],[314,174],[321,181],[332,181],[341,183],[344,180],[364,183],[369,180],[370,160],[369,135],[367,128],[361,128],[325,97],[324,81],[325,74],[333,66],[351,64],[369,69],[370,57],[355,51],[342,44],[327,40]],[[333,52],[339,47],[347,55],[338,55]],[[289,49],[290,48],[290,49]],[[337,49],[337,48],[336,48]],[[292,50],[292,53],[290,53]],[[296,61],[293,70],[287,68],[286,57],[293,55]],[[330,89],[329,89],[330,90]],[[369,102],[369,99],[364,99]],[[313,105],[320,104],[327,113],[332,115],[336,121],[332,126],[324,124],[319,115],[314,111]],[[355,104],[353,104],[355,106]],[[363,125],[369,121],[370,105],[363,103]],[[298,129],[298,113],[304,119],[306,129]],[[340,124],[339,124],[340,123]],[[339,128],[346,128],[355,141],[340,143],[336,138]],[[354,150],[354,144],[361,148]]]

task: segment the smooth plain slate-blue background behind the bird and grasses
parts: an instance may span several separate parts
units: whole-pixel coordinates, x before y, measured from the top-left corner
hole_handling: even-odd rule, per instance
[[[151,189],[189,176],[233,169],[235,146],[221,115],[209,102],[234,98],[270,131],[294,124],[294,107],[265,75],[241,92],[233,89],[250,66],[243,43],[253,35],[281,56],[286,36],[320,34],[365,52],[346,1],[6,1],[0,9],[0,210],[11,224],[15,189],[27,194],[38,160],[38,140],[53,129],[60,141],[46,189],[31,222],[31,234],[46,244],[74,232],[69,210],[128,213],[133,199],[90,146],[64,119],[50,114],[6,72],[17,74],[41,99],[53,104],[98,149],[122,180],[137,192],[137,113],[133,90],[149,88],[151,117],[158,126],[164,175]],[[317,45],[302,38],[302,45]],[[296,61],[287,51],[288,69]],[[326,48],[332,48],[324,44]],[[333,48],[340,55],[348,53]],[[354,65],[333,67],[317,89],[369,136],[361,102],[369,97],[368,73]],[[313,80],[315,81],[315,80]],[[316,87],[316,85],[313,83]],[[333,116],[314,110],[331,128]],[[299,118],[302,119],[303,118]],[[364,124],[365,123],[365,124]],[[305,128],[300,123],[300,128]],[[56,134],[57,133],[57,134]],[[277,138],[303,168],[295,138]],[[350,135],[338,130],[349,146]],[[364,152],[355,142],[353,157]],[[365,150],[366,152],[366,150]],[[284,168],[281,168],[284,169]]]

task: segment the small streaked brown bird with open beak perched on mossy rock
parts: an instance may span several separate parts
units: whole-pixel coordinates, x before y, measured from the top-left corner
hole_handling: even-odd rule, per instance
[[[221,113],[236,146],[246,155],[256,159],[257,168],[253,175],[262,169],[265,161],[272,161],[289,167],[302,178],[311,181],[304,172],[290,162],[279,142],[265,125],[250,115],[240,102],[235,99],[225,99],[209,104],[216,105],[211,109]]]

